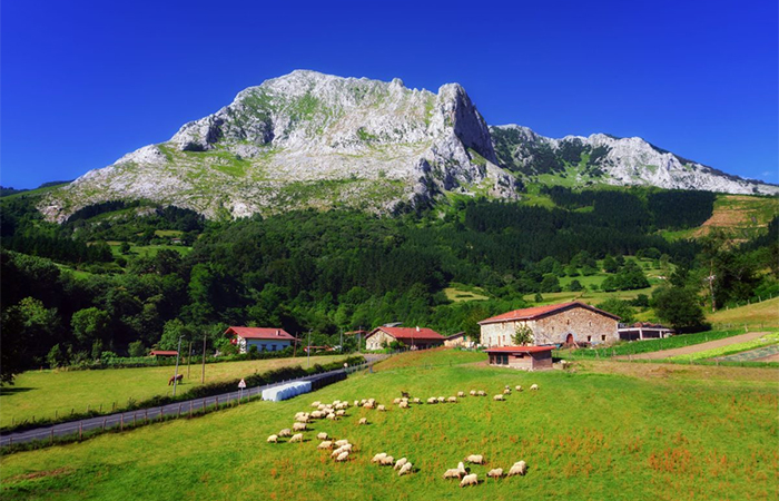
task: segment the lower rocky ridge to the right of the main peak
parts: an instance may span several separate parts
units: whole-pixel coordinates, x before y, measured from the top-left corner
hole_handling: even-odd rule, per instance
[[[593,134],[552,139],[517,125],[490,127],[490,132],[499,163],[532,180],[779,194],[779,186],[731,176],[658,148],[640,137]]]

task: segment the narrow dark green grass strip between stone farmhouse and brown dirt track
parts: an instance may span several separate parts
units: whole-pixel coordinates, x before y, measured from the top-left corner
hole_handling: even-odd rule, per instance
[[[556,350],[554,356],[562,358],[609,358],[619,355],[638,355],[639,353],[659,352],[672,350],[692,344],[707,343],[709,341],[723,340],[726,337],[743,334],[743,330],[731,331],[709,331],[694,334],[680,334],[664,340],[644,340],[633,342],[622,342],[613,346],[602,348],[585,350]]]

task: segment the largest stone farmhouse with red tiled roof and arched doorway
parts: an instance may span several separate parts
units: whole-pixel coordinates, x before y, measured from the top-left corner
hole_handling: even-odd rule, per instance
[[[527,327],[529,344],[599,344],[619,340],[619,316],[589,304],[573,302],[515,310],[483,320],[482,344],[486,347],[511,346],[517,330]]]

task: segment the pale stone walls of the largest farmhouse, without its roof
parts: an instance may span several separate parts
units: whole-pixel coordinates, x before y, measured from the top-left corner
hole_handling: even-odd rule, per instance
[[[618,322],[583,307],[574,307],[534,321],[509,321],[482,325],[482,344],[487,347],[512,346],[517,327],[533,331],[533,345],[564,343],[569,334],[578,343],[613,343],[619,338]]]

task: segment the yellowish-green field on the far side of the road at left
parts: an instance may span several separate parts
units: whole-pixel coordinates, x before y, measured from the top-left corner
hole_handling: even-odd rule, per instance
[[[334,362],[343,356],[312,357],[312,364]],[[286,365],[306,366],[305,357],[255,360],[247,362],[225,362],[206,364],[206,383],[243,377],[255,372],[265,372]],[[0,425],[12,422],[55,418],[69,414],[71,409],[86,412],[90,410],[111,410],[114,404],[121,407],[128,399],[136,401],[155,395],[168,395],[172,386],[168,379],[175,367],[108,369],[102,371],[29,371],[17,376],[13,386],[0,391]],[[200,365],[191,366],[191,376],[187,366],[179,367],[185,375],[177,389],[177,394],[200,385]]]

